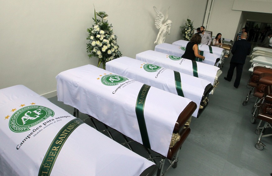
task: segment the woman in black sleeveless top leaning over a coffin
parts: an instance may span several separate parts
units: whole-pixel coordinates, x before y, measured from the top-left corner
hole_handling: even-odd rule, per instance
[[[191,41],[189,41],[188,44],[186,45],[185,53],[181,57],[193,61],[195,61],[196,57],[204,60],[205,57],[201,56],[198,53],[198,44],[200,43],[201,36],[199,34],[194,34],[193,37],[191,38]]]

